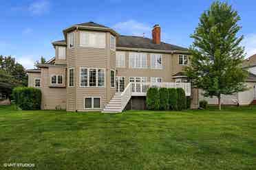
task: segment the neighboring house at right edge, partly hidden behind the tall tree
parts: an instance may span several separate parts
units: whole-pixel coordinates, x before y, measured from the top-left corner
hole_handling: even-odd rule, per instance
[[[245,70],[248,71],[248,78],[246,79],[246,86],[248,90],[234,93],[233,95],[222,95],[221,102],[224,105],[250,105],[256,104],[256,54],[247,58],[242,63]],[[209,104],[217,105],[217,97],[204,97],[202,90],[199,90],[199,99],[205,99]]]

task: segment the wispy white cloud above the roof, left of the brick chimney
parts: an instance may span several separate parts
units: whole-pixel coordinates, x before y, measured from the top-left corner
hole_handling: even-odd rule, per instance
[[[139,23],[135,20],[128,20],[125,22],[116,23],[113,26],[117,32],[120,34],[131,34],[134,36],[145,36],[149,37],[151,35],[151,27],[145,23]]]

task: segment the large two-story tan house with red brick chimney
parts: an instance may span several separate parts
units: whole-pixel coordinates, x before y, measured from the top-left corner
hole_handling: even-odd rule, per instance
[[[55,57],[28,70],[29,86],[42,90],[42,109],[121,112],[128,103],[144,105],[150,86],[182,87],[191,95],[181,73],[189,53],[161,42],[159,25],[152,39],[122,36],[94,22],[68,27],[63,35],[64,40],[52,42]]]

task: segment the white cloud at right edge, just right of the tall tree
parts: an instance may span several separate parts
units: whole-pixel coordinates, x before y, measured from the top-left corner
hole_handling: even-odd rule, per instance
[[[246,58],[253,56],[256,53],[256,34],[248,34],[244,37],[242,45],[245,47]]]

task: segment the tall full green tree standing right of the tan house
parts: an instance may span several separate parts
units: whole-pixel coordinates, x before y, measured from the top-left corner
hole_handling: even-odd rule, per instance
[[[193,86],[204,90],[204,96],[217,97],[221,110],[221,95],[231,95],[246,89],[246,72],[241,64],[244,47],[240,17],[228,3],[215,1],[200,17],[200,23],[191,35],[191,66],[186,75]]]

